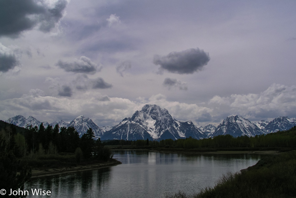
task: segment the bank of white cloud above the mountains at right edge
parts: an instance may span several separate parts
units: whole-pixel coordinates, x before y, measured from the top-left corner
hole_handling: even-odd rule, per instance
[[[229,109],[230,113],[239,114],[252,120],[294,116],[296,111],[296,86],[272,84],[260,94],[214,96],[209,104],[218,104],[221,110]]]

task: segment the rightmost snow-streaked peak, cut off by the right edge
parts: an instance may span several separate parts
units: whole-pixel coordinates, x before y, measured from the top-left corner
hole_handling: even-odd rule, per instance
[[[276,117],[274,120],[270,121],[266,127],[265,131],[268,133],[274,133],[276,131],[286,131],[296,125],[296,118],[288,117]]]

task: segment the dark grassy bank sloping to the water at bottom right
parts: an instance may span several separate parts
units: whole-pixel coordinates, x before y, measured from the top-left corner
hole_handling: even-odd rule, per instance
[[[296,197],[296,151],[259,160],[242,173],[228,173],[214,187],[199,193],[179,191],[165,198],[291,198]]]

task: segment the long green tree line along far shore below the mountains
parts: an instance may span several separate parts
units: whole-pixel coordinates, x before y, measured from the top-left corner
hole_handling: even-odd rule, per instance
[[[106,145],[130,145],[134,147],[174,147],[184,149],[232,149],[232,148],[262,148],[262,147],[296,147],[296,126],[288,131],[278,131],[266,135],[256,136],[238,136],[219,135],[206,139],[194,139],[192,137],[186,139],[166,139],[166,140],[109,140],[104,141]]]

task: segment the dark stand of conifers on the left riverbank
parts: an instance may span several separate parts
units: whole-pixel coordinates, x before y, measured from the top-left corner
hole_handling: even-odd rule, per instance
[[[12,124],[2,123],[1,134],[7,140],[9,148],[16,157],[33,155],[56,155],[59,153],[75,153],[79,162],[83,159],[95,158],[107,160],[111,157],[111,151],[104,147],[100,138],[94,140],[94,131],[89,128],[85,134],[79,137],[79,133],[73,126],[55,127],[48,125],[39,127],[27,126],[25,130]]]

